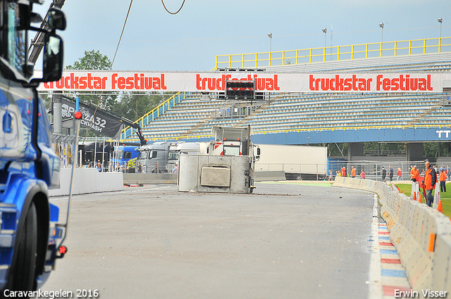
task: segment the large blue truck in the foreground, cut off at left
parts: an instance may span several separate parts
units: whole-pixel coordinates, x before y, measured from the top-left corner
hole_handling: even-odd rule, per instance
[[[61,78],[63,42],[56,30],[66,28],[66,17],[51,8],[47,26],[33,27],[42,21],[32,12],[40,3],[0,0],[0,297],[30,296],[66,252],[67,226],[58,224],[58,207],[48,196],[59,186],[59,158],[36,89]],[[30,32],[42,37],[39,71],[29,57]]]

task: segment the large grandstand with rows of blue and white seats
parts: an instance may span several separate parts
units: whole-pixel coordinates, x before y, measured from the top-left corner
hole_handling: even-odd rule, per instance
[[[443,38],[450,41],[450,38]],[[380,43],[378,43],[380,44]],[[395,43],[396,44],[396,43]],[[410,43],[413,44],[413,43]],[[426,45],[426,40],[424,42]],[[326,55],[323,61],[274,65],[269,59],[264,67],[266,72],[450,72],[451,47],[438,40],[443,48],[437,51],[423,53],[406,53],[380,57],[352,59],[328,59]],[[446,47],[445,47],[446,46]],[[367,46],[366,49],[369,47]],[[354,49],[352,47],[352,49]],[[381,45],[382,49],[382,45]],[[385,51],[385,49],[384,49]],[[312,51],[310,51],[312,53]],[[334,51],[330,51],[333,53]],[[412,51],[413,52],[413,51]],[[431,53],[432,52],[432,53]],[[326,53],[326,49],[324,49]],[[336,53],[336,51],[335,51]],[[382,51],[381,51],[382,53]],[[336,54],[333,54],[336,56]],[[259,57],[255,55],[255,57]],[[271,57],[271,56],[270,56]],[[340,57],[340,56],[337,56]],[[246,66],[245,54],[243,61],[228,61],[228,67]],[[297,57],[295,57],[297,60]],[[259,65],[255,59],[255,65]],[[218,58],[216,59],[218,61]],[[252,62],[254,63],[254,62]],[[216,68],[220,65],[216,64]],[[260,66],[259,66],[260,68]],[[449,86],[447,86],[449,85]],[[340,132],[378,129],[417,129],[432,127],[451,127],[451,105],[447,92],[451,91],[451,82],[444,82],[443,91],[435,93],[290,93],[290,94],[266,94],[264,101],[257,103],[238,103],[225,101],[220,94],[183,93],[173,105],[166,104],[166,108],[156,108],[152,114],[152,120],[144,115],[138,120],[142,125],[144,136],[148,140],[180,140],[190,138],[202,138],[209,136],[214,125],[242,126],[251,125],[257,140],[266,142],[267,136],[272,142],[281,144],[312,144],[324,142],[357,142],[366,141],[356,138],[356,134],[348,139],[330,137],[300,141],[290,139],[284,134],[290,132]],[[164,107],[164,104],[163,104]],[[163,112],[159,112],[163,111]],[[146,121],[144,121],[146,120]],[[407,131],[406,131],[407,132]],[[418,134],[418,133],[417,133]],[[259,139],[259,135],[262,135]],[[333,135],[333,134],[332,134]],[[358,134],[357,134],[358,135]],[[381,135],[381,134],[379,134]],[[409,137],[397,140],[392,134],[388,137],[378,137],[371,141],[428,141],[422,136],[416,136],[412,140]],[[405,135],[405,134],[404,134]],[[132,140],[136,137],[130,128],[125,129],[121,135],[122,140]],[[385,138],[385,139],[384,139]],[[407,139],[405,139],[407,138]],[[269,140],[269,139],[268,139]]]

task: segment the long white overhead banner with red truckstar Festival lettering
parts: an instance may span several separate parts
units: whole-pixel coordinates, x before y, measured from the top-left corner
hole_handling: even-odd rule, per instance
[[[255,80],[259,92],[442,92],[450,75],[428,73],[64,71],[39,91],[224,91],[226,80]]]

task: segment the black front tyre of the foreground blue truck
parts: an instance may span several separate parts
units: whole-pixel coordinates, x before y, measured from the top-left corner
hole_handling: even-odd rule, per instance
[[[37,213],[35,203],[31,203],[22,231],[18,232],[18,255],[12,265],[10,279],[15,291],[32,291],[35,284],[37,255]]]

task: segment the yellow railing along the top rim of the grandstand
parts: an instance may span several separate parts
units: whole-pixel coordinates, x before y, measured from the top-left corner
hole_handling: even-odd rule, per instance
[[[216,68],[262,68],[276,65],[343,61],[426,53],[451,52],[451,37],[378,42],[350,46],[271,51],[216,56]]]

